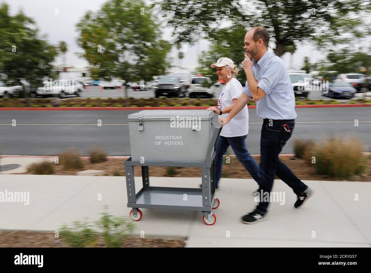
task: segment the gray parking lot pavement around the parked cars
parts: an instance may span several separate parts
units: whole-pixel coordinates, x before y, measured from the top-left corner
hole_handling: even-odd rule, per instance
[[[216,88],[214,92],[214,98],[219,98],[220,92],[222,88]],[[363,93],[359,93],[363,94]],[[125,97],[125,92],[123,89],[101,89],[99,90],[98,86],[89,86],[88,89],[85,89],[82,92],[81,98],[119,98]],[[151,98],[155,97],[155,93],[153,90],[138,90],[135,91],[134,89],[128,88],[128,97],[133,98]],[[77,98],[75,95],[69,96],[69,98]],[[331,100],[329,97],[325,97],[322,95],[321,91],[310,91],[308,98],[311,100]],[[339,98],[339,101],[344,101],[343,98]]]

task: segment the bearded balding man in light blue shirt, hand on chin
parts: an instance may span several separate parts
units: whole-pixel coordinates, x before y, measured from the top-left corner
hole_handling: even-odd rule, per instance
[[[275,175],[293,189],[297,195],[295,208],[301,208],[314,190],[298,179],[283,164],[278,155],[289,140],[295,127],[295,96],[290,77],[281,58],[268,51],[269,33],[257,26],[249,30],[244,39],[245,59],[242,67],[246,85],[242,95],[227,117],[220,118],[226,125],[252,97],[256,101],[257,116],[263,118],[260,135],[260,202],[242,217],[245,224],[266,219],[267,207]],[[254,60],[254,62],[253,62]]]

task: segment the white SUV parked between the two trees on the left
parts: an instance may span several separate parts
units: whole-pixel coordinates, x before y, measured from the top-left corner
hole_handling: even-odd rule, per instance
[[[44,81],[44,86],[37,88],[34,92],[31,90],[31,97],[59,97],[65,98],[69,95],[81,96],[84,87],[81,82],[76,79],[63,79],[59,80],[58,84],[52,84]]]

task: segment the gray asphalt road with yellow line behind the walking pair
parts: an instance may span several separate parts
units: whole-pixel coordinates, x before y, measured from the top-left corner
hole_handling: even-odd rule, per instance
[[[88,155],[92,146],[99,146],[108,155],[130,155],[128,114],[135,110],[116,111],[0,111],[0,149],[3,155],[56,155],[74,147]],[[336,133],[361,139],[365,152],[371,150],[371,108],[297,108],[295,131],[283,148],[293,153],[293,140],[321,141]],[[249,110],[247,147],[260,153],[262,119],[256,110]],[[102,126],[98,127],[98,120]],[[358,127],[354,120],[358,120]],[[16,120],[16,126],[12,126]],[[358,145],[354,143],[354,145]],[[230,152],[232,154],[232,152]]]

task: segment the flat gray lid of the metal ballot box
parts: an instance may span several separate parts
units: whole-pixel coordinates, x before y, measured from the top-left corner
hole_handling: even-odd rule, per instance
[[[138,120],[139,116],[142,116],[143,120],[170,120],[171,118],[192,118],[197,115],[197,118],[201,120],[210,120],[214,116],[214,111],[207,111],[203,109],[193,109],[193,110],[142,110],[137,113],[130,114],[128,120]]]

